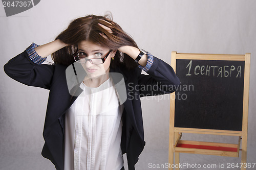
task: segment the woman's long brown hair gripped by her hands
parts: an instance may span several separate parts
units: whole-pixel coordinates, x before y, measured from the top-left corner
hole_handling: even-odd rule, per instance
[[[111,25],[103,20],[110,22]],[[98,23],[111,28],[113,33],[104,30]],[[102,34],[108,38],[104,38]],[[121,27],[112,20],[111,15],[87,15],[77,18],[73,20],[68,28],[60,33],[56,39],[70,44],[52,54],[54,63],[62,65],[70,65],[74,62],[73,55],[77,52],[77,43],[84,40],[100,44],[111,50],[115,50],[123,45],[138,47],[133,38],[126,34]],[[121,63],[124,63],[126,68],[134,68],[137,66],[130,56],[122,54],[117,50],[115,60],[111,60],[111,67],[115,68]]]

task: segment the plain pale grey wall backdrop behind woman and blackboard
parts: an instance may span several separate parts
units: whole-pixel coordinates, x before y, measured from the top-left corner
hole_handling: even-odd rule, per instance
[[[1,6],[0,64],[3,68],[32,42],[40,45],[54,40],[77,17],[104,15],[107,11],[112,12],[114,21],[135,39],[140,48],[169,64],[172,51],[251,53],[247,162],[253,163],[256,161],[255,8],[256,1],[253,0],[44,0],[28,11],[6,17]],[[48,61],[51,61],[50,57]],[[0,169],[54,169],[51,162],[40,155],[49,91],[20,84],[10,79],[3,69],[0,77]],[[149,165],[168,162],[169,95],[143,98],[142,110],[146,145],[136,167],[167,169],[150,168]],[[183,134],[183,137],[231,143],[238,141],[237,137],[216,135]],[[241,157],[194,154],[181,154],[180,157],[181,162],[218,166],[241,160]]]

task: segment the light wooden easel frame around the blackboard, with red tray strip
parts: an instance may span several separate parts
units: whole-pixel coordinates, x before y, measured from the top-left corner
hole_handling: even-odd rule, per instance
[[[247,129],[248,129],[248,105],[249,105],[249,75],[250,75],[250,54],[245,55],[222,55],[222,54],[182,54],[172,52],[171,65],[176,71],[176,60],[225,60],[225,61],[244,61],[244,89],[243,89],[243,118],[242,131],[218,130],[218,129],[197,129],[175,127],[175,92],[170,94],[170,122],[169,122],[169,169],[179,169],[179,153],[219,155],[229,157],[239,157],[241,142],[241,169],[246,169],[247,160]],[[203,141],[181,140],[182,133],[211,134],[238,136],[238,144],[216,143]],[[242,138],[241,138],[242,137]],[[242,139],[242,141],[241,141]],[[178,145],[190,144],[190,148],[178,147]],[[200,147],[199,147],[200,146]],[[211,149],[205,149],[211,147]],[[216,150],[215,150],[216,148]],[[220,148],[232,148],[234,151],[220,150]],[[174,164],[175,159],[175,164]]]

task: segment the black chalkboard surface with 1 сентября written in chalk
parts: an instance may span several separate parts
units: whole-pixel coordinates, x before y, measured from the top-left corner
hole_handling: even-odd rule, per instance
[[[244,65],[177,59],[175,127],[242,131]]]

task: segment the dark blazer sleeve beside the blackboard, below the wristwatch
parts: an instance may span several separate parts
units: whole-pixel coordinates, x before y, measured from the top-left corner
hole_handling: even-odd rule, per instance
[[[141,97],[172,93],[180,85],[173,67],[157,57],[153,57],[153,64],[146,73],[148,75],[138,75]]]

